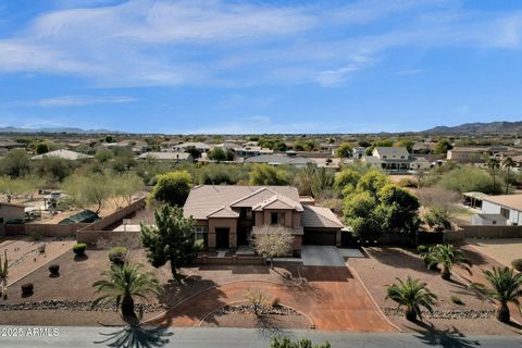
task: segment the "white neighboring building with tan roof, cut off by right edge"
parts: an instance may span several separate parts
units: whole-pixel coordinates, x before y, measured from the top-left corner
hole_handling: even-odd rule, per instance
[[[472,224],[522,225],[522,194],[488,196],[469,192],[464,195],[469,199],[473,198],[473,206],[481,207],[481,212],[471,217]]]

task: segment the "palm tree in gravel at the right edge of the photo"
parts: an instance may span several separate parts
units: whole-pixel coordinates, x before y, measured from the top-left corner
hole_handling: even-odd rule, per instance
[[[522,297],[522,273],[517,273],[513,269],[508,268],[493,268],[493,272],[483,270],[482,273],[484,273],[493,289],[488,289],[480,283],[473,283],[472,286],[497,300],[497,319],[502,323],[509,323],[508,302],[517,304],[520,309],[519,297]]]

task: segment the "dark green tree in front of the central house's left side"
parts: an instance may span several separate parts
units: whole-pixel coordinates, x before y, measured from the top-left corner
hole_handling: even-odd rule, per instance
[[[154,211],[156,225],[141,224],[141,243],[154,268],[171,262],[171,272],[177,278],[177,269],[189,264],[198,254],[194,231],[196,222],[185,217],[179,207],[163,206]]]

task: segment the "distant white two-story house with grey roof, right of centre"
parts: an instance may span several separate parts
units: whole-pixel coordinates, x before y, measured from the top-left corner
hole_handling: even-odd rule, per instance
[[[410,156],[406,148],[376,147],[362,161],[387,172],[426,171],[432,164],[423,157]]]

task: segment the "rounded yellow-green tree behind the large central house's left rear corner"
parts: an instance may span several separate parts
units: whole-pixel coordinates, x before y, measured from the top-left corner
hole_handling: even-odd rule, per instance
[[[151,198],[171,206],[183,206],[190,192],[192,177],[187,171],[176,171],[157,176]]]

